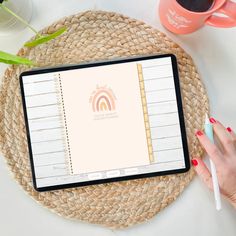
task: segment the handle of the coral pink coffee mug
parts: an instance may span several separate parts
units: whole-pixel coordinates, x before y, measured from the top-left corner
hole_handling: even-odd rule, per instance
[[[226,1],[226,3],[216,11],[216,13],[224,14],[226,17],[212,15],[206,20],[207,25],[222,28],[236,26],[236,3]]]

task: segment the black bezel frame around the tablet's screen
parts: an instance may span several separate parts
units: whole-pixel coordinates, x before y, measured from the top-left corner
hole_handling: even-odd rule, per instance
[[[98,180],[92,180],[92,181],[86,181],[86,182],[77,182],[77,183],[54,185],[54,186],[47,186],[47,187],[37,187],[35,170],[34,170],[34,162],[33,162],[33,154],[32,154],[31,141],[30,141],[29,124],[28,124],[28,118],[27,118],[27,110],[26,110],[26,104],[25,104],[23,77],[29,76],[29,75],[35,75],[35,74],[59,72],[59,71],[65,71],[65,70],[104,66],[104,65],[111,65],[111,64],[120,64],[120,63],[126,63],[126,62],[150,60],[150,59],[164,58],[164,57],[170,57],[172,61],[172,69],[173,69],[174,84],[175,84],[175,91],[176,91],[176,101],[177,101],[177,106],[178,106],[180,130],[181,130],[181,136],[182,136],[185,168],[152,172],[152,173],[146,173],[146,174],[122,176],[122,177],[115,177],[115,178],[98,179]],[[132,180],[132,179],[137,179],[137,178],[147,178],[147,177],[155,177],[155,176],[161,176],[161,175],[178,174],[178,173],[187,172],[190,169],[187,135],[186,135],[186,129],[185,129],[180,83],[179,83],[179,76],[178,76],[178,66],[177,66],[176,57],[173,54],[138,56],[138,57],[133,57],[133,58],[116,59],[116,60],[102,61],[102,62],[98,61],[98,62],[92,62],[92,63],[66,65],[66,66],[53,67],[53,68],[39,68],[36,70],[26,71],[26,72],[21,73],[20,75],[20,90],[21,90],[22,103],[23,103],[23,112],[24,112],[26,134],[27,134],[27,141],[28,141],[30,165],[31,165],[31,170],[32,170],[33,186],[39,192],[58,190],[58,189],[64,189],[64,188],[81,187],[81,186],[87,186],[87,185],[93,185],[93,184],[103,184],[103,183],[109,183],[109,182],[115,182],[115,181]]]

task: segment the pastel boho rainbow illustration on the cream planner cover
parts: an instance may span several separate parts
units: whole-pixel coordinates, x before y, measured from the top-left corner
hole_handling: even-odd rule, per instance
[[[111,89],[107,87],[97,88],[91,98],[90,102],[94,112],[106,112],[115,110],[115,96]]]

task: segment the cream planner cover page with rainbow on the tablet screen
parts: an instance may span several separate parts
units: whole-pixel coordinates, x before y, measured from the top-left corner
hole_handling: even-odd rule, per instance
[[[61,73],[72,174],[149,164],[135,63]]]

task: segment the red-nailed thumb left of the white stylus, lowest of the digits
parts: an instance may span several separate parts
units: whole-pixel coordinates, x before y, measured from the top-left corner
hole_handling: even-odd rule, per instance
[[[203,183],[205,183],[209,189],[213,190],[211,173],[206,164],[200,158],[193,158],[192,164]]]

